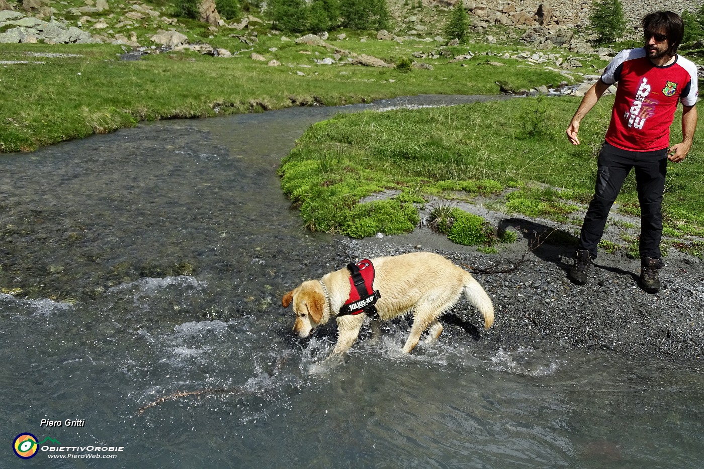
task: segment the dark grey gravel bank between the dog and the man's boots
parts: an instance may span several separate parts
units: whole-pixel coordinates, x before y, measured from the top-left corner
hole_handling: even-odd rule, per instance
[[[637,286],[639,261],[619,255],[601,254],[590,282],[572,284],[567,280],[570,246],[543,244],[512,272],[482,273],[507,270],[508,261],[523,257],[519,249],[527,250],[481,254],[448,246],[427,232],[420,237],[339,239],[338,244],[340,256],[349,259],[423,250],[470,270],[494,301],[495,323],[479,330],[478,313],[463,302],[444,316],[444,323],[449,333],[467,332],[478,348],[601,349],[631,361],[661,358],[704,370],[704,264],[697,258],[664,258],[662,289],[647,294]]]

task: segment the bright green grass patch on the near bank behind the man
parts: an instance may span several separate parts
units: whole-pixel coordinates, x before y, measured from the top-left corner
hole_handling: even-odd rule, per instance
[[[487,194],[496,194],[519,186],[505,197],[506,210],[565,222],[579,208],[570,200],[584,203],[593,191],[612,99],[599,101],[582,123],[582,145],[572,146],[563,132],[578,104],[573,98],[524,98],[339,115],[313,125],[298,140],[279,170],[282,188],[306,207],[303,218],[345,235],[351,232],[339,222],[344,213],[363,197],[387,189],[452,199],[461,197],[455,191],[467,196],[486,187]],[[534,113],[544,125],[527,135],[524,116]],[[674,141],[681,138],[678,127],[679,116],[672,127]],[[703,132],[701,121],[698,127]],[[684,163],[668,168],[667,234],[703,232],[703,181],[704,151],[696,144]],[[624,185],[619,202],[639,212],[634,184]],[[406,215],[412,212],[410,203],[398,201],[398,206]]]

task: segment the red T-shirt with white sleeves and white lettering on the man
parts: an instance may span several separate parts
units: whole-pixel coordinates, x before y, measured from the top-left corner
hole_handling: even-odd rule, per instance
[[[601,81],[618,82],[606,141],[629,151],[655,151],[670,147],[670,125],[677,101],[697,101],[697,67],[676,55],[670,65],[658,67],[646,49],[621,51],[604,70]]]

